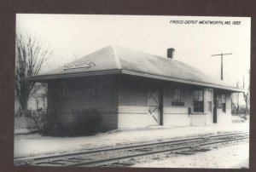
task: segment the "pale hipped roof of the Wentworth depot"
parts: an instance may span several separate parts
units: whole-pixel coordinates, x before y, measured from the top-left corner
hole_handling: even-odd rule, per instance
[[[178,83],[189,83],[211,88],[241,91],[215,80],[204,72],[181,61],[143,53],[119,46],[108,46],[73,62],[90,62],[91,67],[65,70],[64,66],[38,76],[27,77],[30,81],[44,81],[55,78],[83,77],[112,73],[124,73],[140,77],[151,77]]]

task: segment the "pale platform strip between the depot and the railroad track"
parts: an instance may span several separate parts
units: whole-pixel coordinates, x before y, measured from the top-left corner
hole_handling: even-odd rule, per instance
[[[14,155],[15,158],[49,156],[82,152],[100,147],[127,146],[234,131],[249,131],[249,123],[184,127],[152,126],[142,129],[116,129],[108,133],[80,137],[50,137],[20,133],[15,135]]]

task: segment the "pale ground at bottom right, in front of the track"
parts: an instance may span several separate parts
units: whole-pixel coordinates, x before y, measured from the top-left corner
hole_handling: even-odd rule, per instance
[[[249,167],[249,144],[223,146],[209,152],[194,155],[169,154],[154,158],[141,158],[133,167],[149,168],[207,168],[207,169],[241,169]]]

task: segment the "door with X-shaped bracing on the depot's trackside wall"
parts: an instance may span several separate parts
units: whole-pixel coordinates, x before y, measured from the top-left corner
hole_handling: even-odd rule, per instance
[[[160,91],[148,90],[148,114],[154,118],[155,124],[160,124]]]

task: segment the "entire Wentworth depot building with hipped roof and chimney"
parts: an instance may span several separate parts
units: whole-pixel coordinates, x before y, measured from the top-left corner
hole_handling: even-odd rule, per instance
[[[48,115],[70,125],[73,110],[95,108],[102,129],[231,123],[231,94],[241,92],[173,57],[108,46],[38,76],[48,83]]]

